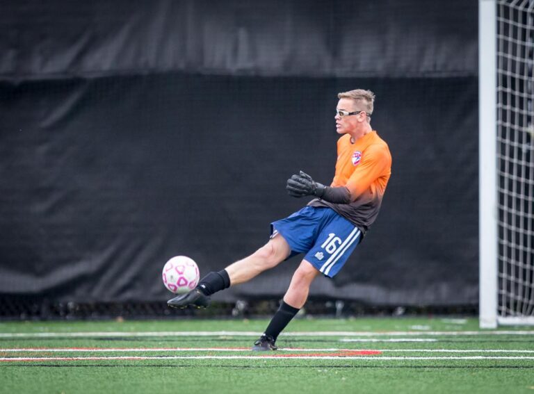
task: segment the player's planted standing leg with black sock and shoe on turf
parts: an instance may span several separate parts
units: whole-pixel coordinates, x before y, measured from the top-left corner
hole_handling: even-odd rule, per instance
[[[278,335],[304,306],[308,298],[309,286],[320,273],[308,261],[302,260],[291,278],[291,284],[284,295],[284,302],[270,320],[264,334],[254,342],[252,350],[277,350],[275,342]]]

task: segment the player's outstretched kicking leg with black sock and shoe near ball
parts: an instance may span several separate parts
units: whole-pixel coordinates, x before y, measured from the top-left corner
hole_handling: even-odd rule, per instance
[[[224,290],[231,284],[249,281],[257,274],[280,264],[289,254],[291,254],[291,248],[288,243],[282,236],[277,235],[256,252],[229,265],[225,270],[209,272],[200,279],[195,289],[170,299],[167,304],[173,308],[186,308],[186,306],[206,308],[209,305],[209,296],[213,293]]]

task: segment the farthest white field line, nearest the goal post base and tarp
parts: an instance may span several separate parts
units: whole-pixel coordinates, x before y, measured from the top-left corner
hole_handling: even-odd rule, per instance
[[[13,332],[0,333],[0,338],[109,338],[143,336],[260,336],[256,331],[88,331],[88,332]],[[534,331],[302,331],[286,332],[281,336],[484,336],[532,335]]]

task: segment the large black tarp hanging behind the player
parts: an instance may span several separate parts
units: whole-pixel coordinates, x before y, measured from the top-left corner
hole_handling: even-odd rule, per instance
[[[377,95],[382,211],[312,295],[478,302],[476,1],[1,1],[0,295],[164,300],[334,172],[337,92]],[[298,258],[216,299],[277,297]]]

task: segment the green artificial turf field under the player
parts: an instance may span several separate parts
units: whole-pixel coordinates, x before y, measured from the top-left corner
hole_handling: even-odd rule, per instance
[[[267,323],[243,319],[1,322],[0,393],[534,393],[534,335],[528,327],[500,328],[499,332],[510,332],[496,335],[493,330],[479,330],[476,319],[303,318],[291,322],[280,336],[279,351],[250,352]],[[186,331],[190,335],[174,334]],[[324,331],[339,335],[321,334]],[[54,336],[35,336],[42,333]],[[79,334],[66,336],[75,333]],[[40,351],[21,350],[29,348]],[[154,348],[158,350],[149,351]],[[240,350],[193,350],[199,348]],[[125,349],[128,352],[121,351]],[[347,349],[381,353],[348,358],[353,353],[339,351]],[[273,355],[280,357],[266,358]],[[324,355],[333,358],[317,357]],[[72,359],[95,356],[103,359]],[[172,356],[204,358],[168,358]],[[218,356],[254,358],[214,358]],[[446,358],[451,356],[479,358]],[[515,358],[487,358],[494,356]],[[37,359],[6,361],[13,357]]]

